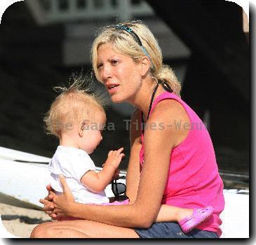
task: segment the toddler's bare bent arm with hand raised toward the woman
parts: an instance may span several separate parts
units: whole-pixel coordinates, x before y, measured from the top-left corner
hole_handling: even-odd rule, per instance
[[[124,156],[123,148],[109,151],[108,158],[100,172],[88,171],[81,178],[81,183],[94,193],[100,193],[112,181],[114,172]]]

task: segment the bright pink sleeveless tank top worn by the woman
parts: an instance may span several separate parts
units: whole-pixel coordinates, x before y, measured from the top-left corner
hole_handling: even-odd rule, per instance
[[[170,169],[162,204],[181,208],[201,208],[212,206],[214,214],[205,223],[198,225],[199,230],[216,232],[220,237],[220,213],[224,209],[223,182],[218,172],[213,144],[206,126],[196,113],[170,92],[163,92],[152,104],[151,112],[163,99],[175,99],[182,104],[190,120],[190,130],[186,139],[173,148],[170,154]],[[180,122],[175,122],[179,127]],[[144,139],[140,150],[140,167],[144,162]],[[161,163],[159,163],[161,167]]]

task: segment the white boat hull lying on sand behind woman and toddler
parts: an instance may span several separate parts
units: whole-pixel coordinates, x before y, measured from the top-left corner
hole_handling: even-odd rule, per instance
[[[39,199],[48,194],[48,165],[14,160],[49,162],[50,158],[0,147],[0,202],[42,209],[43,205],[39,203]],[[125,176],[126,173],[122,172],[121,175]],[[125,183],[125,180],[120,179],[119,182]],[[249,237],[248,194],[239,194],[238,190],[224,190],[225,209],[221,214],[223,238]],[[107,186],[106,195],[113,196],[111,185]]]

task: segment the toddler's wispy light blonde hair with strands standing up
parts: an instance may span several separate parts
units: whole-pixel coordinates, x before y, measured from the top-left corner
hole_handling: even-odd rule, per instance
[[[46,132],[60,138],[60,134],[71,130],[76,123],[94,120],[95,113],[105,113],[107,100],[100,94],[93,93],[93,83],[82,75],[74,73],[69,79],[69,87],[54,87],[60,92],[50,105],[50,109],[43,118]]]

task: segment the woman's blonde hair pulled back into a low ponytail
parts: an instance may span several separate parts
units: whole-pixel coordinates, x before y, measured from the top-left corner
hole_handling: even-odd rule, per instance
[[[120,26],[132,29],[140,38],[143,47],[147,51],[143,51],[140,44],[132,34],[125,29],[117,28]],[[177,80],[173,69],[171,69],[170,66],[163,64],[161,48],[159,47],[156,38],[149,28],[142,24],[141,21],[123,22],[119,25],[110,25],[100,29],[91,49],[93,70],[97,80],[100,80],[100,76],[97,71],[97,49],[104,43],[111,43],[114,49],[124,55],[132,57],[135,62],[145,55],[149,56],[149,59],[151,60],[150,71],[153,78],[156,78],[157,80],[164,80],[168,85],[170,85],[173,92],[180,96],[180,82]]]

